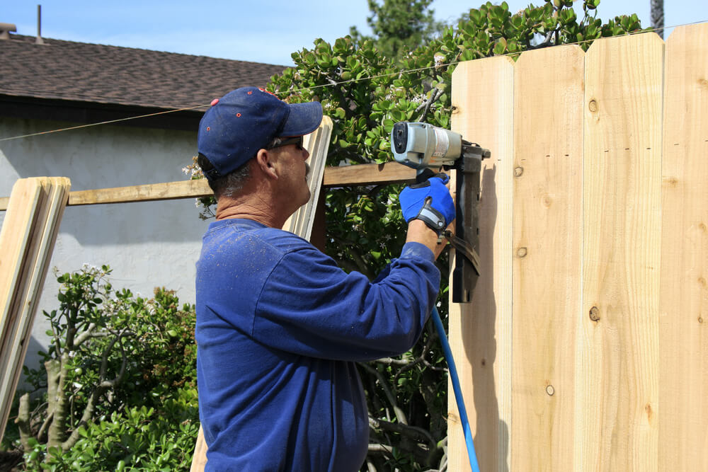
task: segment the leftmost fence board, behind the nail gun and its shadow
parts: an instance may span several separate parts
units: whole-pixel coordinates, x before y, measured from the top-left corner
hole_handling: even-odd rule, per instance
[[[481,277],[470,304],[450,301],[450,347],[457,363],[479,466],[483,471],[508,471],[513,61],[494,57],[459,64],[452,74],[452,105],[455,107],[452,130],[490,149],[491,159],[483,162],[481,177]],[[448,391],[448,470],[469,471],[454,394],[452,388]]]

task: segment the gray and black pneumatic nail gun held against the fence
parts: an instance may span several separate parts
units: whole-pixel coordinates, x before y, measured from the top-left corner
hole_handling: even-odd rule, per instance
[[[479,184],[481,161],[488,149],[462,139],[462,135],[428,123],[398,122],[391,132],[391,149],[399,163],[415,168],[424,180],[426,169],[457,170],[455,234],[445,237],[458,255],[452,271],[452,301],[468,303],[479,277]]]

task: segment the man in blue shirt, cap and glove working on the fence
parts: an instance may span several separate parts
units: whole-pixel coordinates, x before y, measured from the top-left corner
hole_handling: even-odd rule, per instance
[[[435,303],[443,245],[430,227],[455,216],[443,178],[401,193],[406,244],[375,282],[280,229],[309,200],[302,136],[321,117],[319,103],[245,87],[200,122],[217,197],[196,281],[207,470],[358,470],[369,424],[354,362],[409,350]]]

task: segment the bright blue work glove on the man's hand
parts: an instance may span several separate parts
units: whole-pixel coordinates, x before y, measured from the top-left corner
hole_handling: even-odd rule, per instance
[[[445,173],[438,173],[421,183],[403,189],[399,202],[406,222],[423,220],[438,235],[455,219],[455,203],[445,184],[450,180]]]

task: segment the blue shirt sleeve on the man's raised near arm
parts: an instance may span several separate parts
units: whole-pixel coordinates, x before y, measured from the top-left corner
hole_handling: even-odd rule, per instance
[[[253,338],[310,357],[365,361],[398,355],[420,337],[440,288],[433,253],[406,243],[370,282],[315,248],[286,253],[258,297]]]

